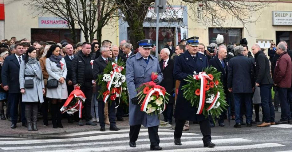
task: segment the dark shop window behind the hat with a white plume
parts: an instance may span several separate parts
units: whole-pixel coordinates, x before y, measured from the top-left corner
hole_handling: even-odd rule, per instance
[[[218,34],[223,35],[226,45],[239,43],[242,39],[241,28],[209,28],[209,44],[216,43]]]

